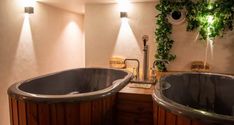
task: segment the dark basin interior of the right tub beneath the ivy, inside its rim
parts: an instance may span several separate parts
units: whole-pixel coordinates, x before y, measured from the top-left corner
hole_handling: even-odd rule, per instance
[[[211,74],[180,74],[160,81],[164,97],[184,106],[234,115],[234,79]]]

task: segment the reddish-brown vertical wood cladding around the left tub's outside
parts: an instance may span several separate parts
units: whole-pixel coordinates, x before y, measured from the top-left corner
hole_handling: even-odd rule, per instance
[[[77,103],[35,103],[9,98],[11,125],[112,125],[115,96]]]

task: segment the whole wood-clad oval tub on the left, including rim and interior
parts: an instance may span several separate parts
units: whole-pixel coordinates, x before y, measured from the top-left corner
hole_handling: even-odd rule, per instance
[[[16,83],[8,89],[11,125],[111,125],[115,95],[131,77],[83,68]]]

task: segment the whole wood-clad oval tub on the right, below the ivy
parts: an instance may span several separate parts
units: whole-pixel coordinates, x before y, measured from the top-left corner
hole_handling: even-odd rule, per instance
[[[153,93],[155,125],[234,125],[234,77],[179,73]]]

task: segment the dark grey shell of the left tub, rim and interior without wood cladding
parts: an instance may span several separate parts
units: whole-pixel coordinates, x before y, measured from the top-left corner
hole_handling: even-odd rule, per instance
[[[33,101],[79,101],[111,95],[128,84],[131,73],[105,68],[79,68],[12,85],[8,94]]]

